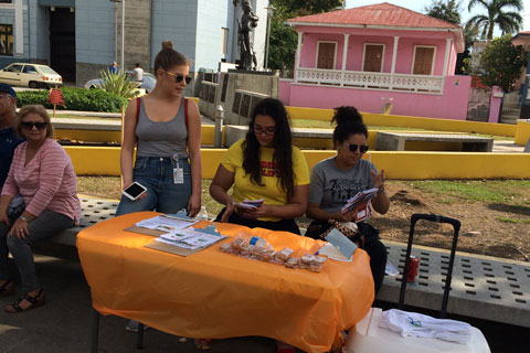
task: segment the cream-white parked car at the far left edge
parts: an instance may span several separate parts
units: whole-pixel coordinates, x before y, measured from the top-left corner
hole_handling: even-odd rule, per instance
[[[63,77],[47,65],[13,63],[0,69],[0,82],[31,88],[63,85]]]

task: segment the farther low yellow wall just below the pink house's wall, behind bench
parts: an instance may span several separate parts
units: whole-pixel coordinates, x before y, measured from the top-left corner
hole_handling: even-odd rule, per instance
[[[333,116],[332,109],[300,107],[286,107],[286,109],[289,113],[292,119],[331,121],[331,117]],[[426,129],[435,131],[477,132],[485,135],[499,135],[510,137],[516,136],[516,126],[508,124],[434,119],[373,113],[362,113],[362,118],[364,120],[364,124],[367,125],[398,126],[403,128]]]

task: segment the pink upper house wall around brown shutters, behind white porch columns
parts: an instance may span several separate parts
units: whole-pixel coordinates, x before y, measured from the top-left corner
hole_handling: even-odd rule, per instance
[[[299,26],[297,31],[304,32],[301,46],[300,67],[316,67],[318,41],[337,42],[336,69],[342,68],[342,52],[344,33],[349,33],[347,52],[347,71],[362,71],[362,55],[364,43],[384,44],[383,73],[390,73],[392,67],[392,53],[394,51],[394,35],[399,35],[395,73],[412,74],[415,45],[435,46],[433,75],[443,75],[446,39],[453,35],[448,32],[420,32],[420,31],[389,31],[363,30],[342,28],[311,28]],[[456,51],[454,42],[449,49],[448,75],[455,73]]]

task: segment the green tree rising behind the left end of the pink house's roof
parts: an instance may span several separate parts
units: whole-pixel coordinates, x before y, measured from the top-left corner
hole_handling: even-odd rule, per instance
[[[283,77],[293,77],[298,34],[286,25],[288,19],[342,9],[344,3],[344,0],[271,0],[276,10],[271,19],[268,67],[282,71]]]

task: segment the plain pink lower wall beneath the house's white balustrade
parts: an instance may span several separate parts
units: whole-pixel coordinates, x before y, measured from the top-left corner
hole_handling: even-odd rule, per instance
[[[331,109],[352,105],[361,111],[381,113],[382,97],[393,98],[392,114],[465,120],[470,76],[446,76],[444,94],[415,94],[282,82],[279,99],[289,106]],[[288,92],[285,92],[285,90]]]

